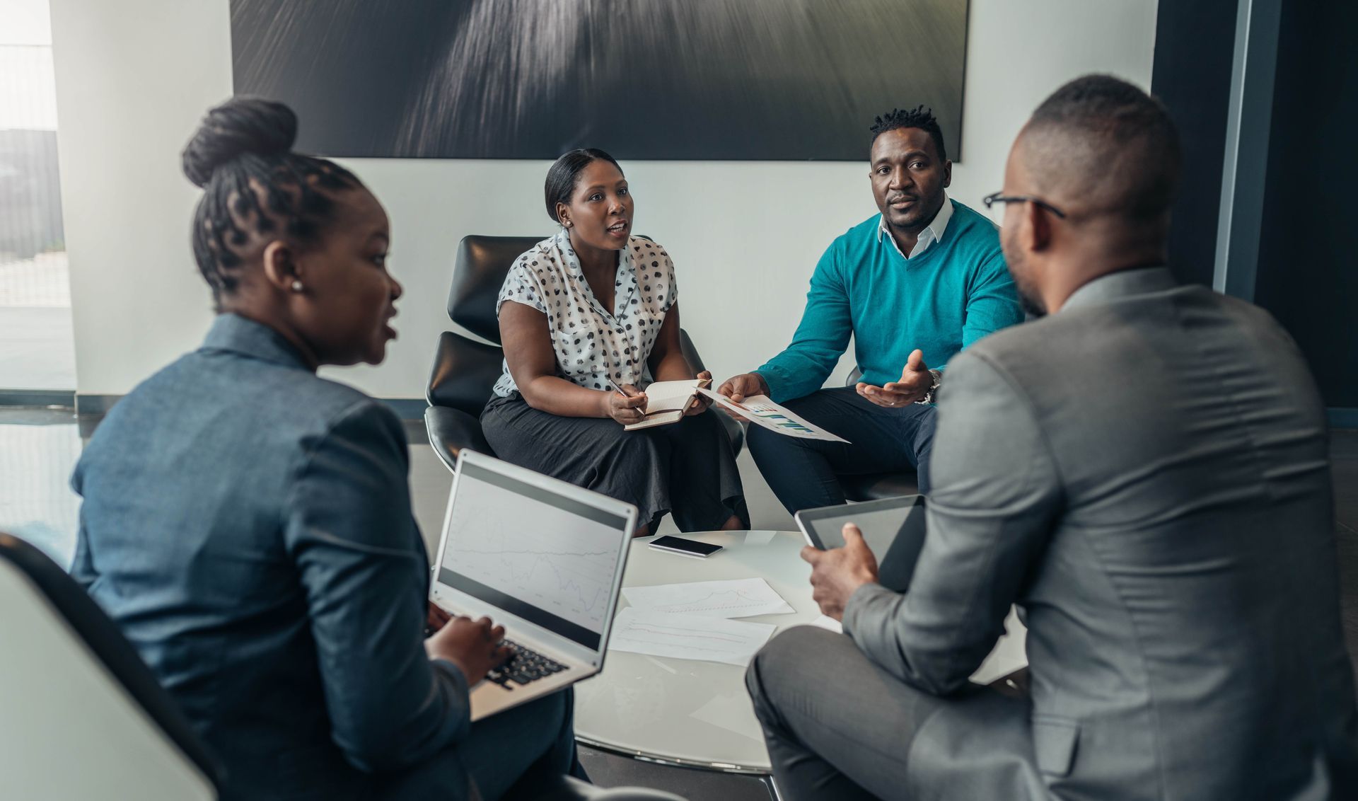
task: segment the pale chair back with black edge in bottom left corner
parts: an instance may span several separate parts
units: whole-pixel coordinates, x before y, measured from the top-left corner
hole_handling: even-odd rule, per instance
[[[220,768],[114,622],[7,534],[0,610],[0,794],[217,797]]]

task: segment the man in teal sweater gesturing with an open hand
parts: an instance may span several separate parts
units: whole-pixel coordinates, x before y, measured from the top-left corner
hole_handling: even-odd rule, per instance
[[[929,491],[941,369],[986,334],[1023,320],[994,224],[944,191],[952,162],[923,107],[877,117],[872,194],[880,215],[830,244],[782,353],[718,391],[769,395],[850,444],[750,428],[750,451],[789,512],[845,502],[838,475],[918,470]],[[862,377],[822,390],[854,338]]]

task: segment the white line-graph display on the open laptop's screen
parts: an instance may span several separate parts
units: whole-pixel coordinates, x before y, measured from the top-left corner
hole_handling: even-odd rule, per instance
[[[452,505],[443,566],[551,615],[603,631],[618,551],[617,527],[467,471]]]

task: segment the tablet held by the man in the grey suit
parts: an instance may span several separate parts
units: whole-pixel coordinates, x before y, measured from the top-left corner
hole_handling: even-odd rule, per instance
[[[904,592],[925,544],[925,497],[903,496],[865,504],[803,509],[794,516],[807,542],[820,550],[845,544],[843,525],[853,523],[877,557],[877,581]]]

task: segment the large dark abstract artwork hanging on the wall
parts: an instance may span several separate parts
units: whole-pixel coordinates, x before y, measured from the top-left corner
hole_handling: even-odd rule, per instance
[[[862,160],[930,106],[957,160],[967,0],[231,0],[235,91],[333,156]]]

